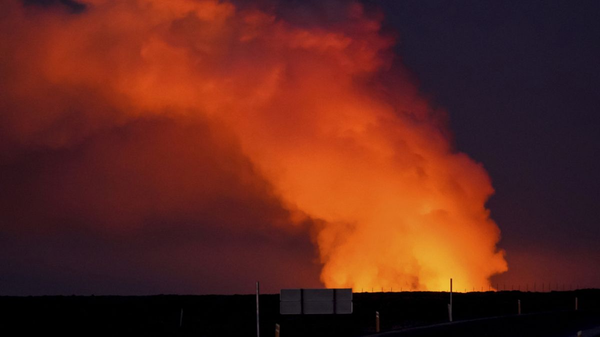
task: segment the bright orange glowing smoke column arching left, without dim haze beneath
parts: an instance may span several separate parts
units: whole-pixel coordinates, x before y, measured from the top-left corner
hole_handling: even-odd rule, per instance
[[[35,111],[2,117],[11,142],[62,148],[140,118],[208,119],[293,221],[317,224],[327,287],[487,288],[507,269],[487,173],[394,65],[379,14],[351,4],[307,28],[221,1],[82,2],[0,8],[3,98]]]

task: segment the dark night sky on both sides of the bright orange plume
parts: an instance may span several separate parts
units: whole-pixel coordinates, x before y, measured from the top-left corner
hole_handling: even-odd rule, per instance
[[[71,0],[24,2],[85,11]],[[363,3],[381,9],[385,32],[398,40],[396,62],[448,112],[455,148],[491,177],[496,192],[487,206],[509,264],[492,283],[600,287],[600,2]],[[289,22],[319,26],[343,17],[338,11],[347,1],[261,4],[278,7]],[[7,36],[17,45],[19,38]],[[0,61],[13,62],[5,51]],[[9,73],[10,62],[0,71]],[[9,82],[0,80],[0,90],[11,89]],[[40,88],[51,91],[47,83]],[[209,122],[140,120],[89,131],[80,127],[89,116],[77,109],[113,109],[112,98],[62,89],[40,104],[74,100],[68,106],[75,113],[54,126],[76,129],[76,146],[20,148],[2,134],[10,127],[0,126],[0,295],[250,293],[254,275],[271,282],[272,292],[320,285],[308,229],[318,220],[290,227],[292,216],[269,183],[227,143],[234,141],[221,145],[226,137]],[[7,92],[0,109],[40,109],[36,100],[10,101]],[[92,121],[102,118],[111,117]],[[194,180],[198,171],[208,185]],[[142,201],[128,204],[132,195]],[[103,228],[110,222],[144,227],[112,232]],[[296,273],[286,271],[292,264]]]

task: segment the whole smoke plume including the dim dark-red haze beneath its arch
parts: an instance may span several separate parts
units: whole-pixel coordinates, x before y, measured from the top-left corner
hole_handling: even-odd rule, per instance
[[[56,255],[28,249],[41,274],[98,245],[135,257],[89,253],[102,277],[168,268],[189,291],[286,266],[264,277],[305,287],[321,267],[326,287],[445,290],[507,269],[490,178],[452,147],[376,10],[80,3],[0,5],[5,265],[61,237]]]

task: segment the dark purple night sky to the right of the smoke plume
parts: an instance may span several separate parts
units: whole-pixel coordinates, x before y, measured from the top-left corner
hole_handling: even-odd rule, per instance
[[[448,110],[457,148],[490,173],[509,263],[496,281],[543,263],[529,282],[594,275],[598,287],[600,3],[377,3],[404,64]],[[565,264],[579,276],[560,275]]]

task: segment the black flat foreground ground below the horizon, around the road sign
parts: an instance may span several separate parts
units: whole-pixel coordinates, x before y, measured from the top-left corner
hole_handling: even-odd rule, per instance
[[[578,311],[575,311],[578,297]],[[2,331],[59,336],[256,336],[254,295],[0,297]],[[521,315],[517,315],[521,300]],[[260,296],[261,336],[575,336],[600,326],[600,290],[355,293],[352,315],[280,315]],[[179,326],[183,309],[182,326]],[[493,318],[491,318],[493,317]],[[486,319],[481,319],[486,318]],[[431,326],[433,324],[438,324]],[[431,326],[424,328],[424,326]],[[584,335],[586,337],[586,335]]]

